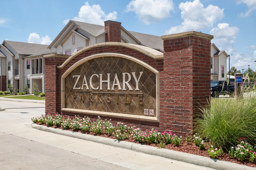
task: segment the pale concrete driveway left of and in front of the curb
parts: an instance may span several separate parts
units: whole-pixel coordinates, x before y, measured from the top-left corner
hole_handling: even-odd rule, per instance
[[[2,101],[0,170],[212,170],[30,127],[45,104]]]

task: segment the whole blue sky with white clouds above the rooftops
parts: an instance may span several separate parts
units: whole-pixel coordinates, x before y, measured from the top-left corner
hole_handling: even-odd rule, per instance
[[[158,36],[201,31],[230,55],[230,67],[256,70],[256,0],[1,1],[0,43],[50,44],[69,20],[115,20],[128,31]]]

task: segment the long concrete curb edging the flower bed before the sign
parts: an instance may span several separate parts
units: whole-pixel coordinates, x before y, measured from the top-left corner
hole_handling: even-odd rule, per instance
[[[65,135],[65,136],[69,136],[69,137],[74,137],[74,138],[78,138],[78,139],[96,142],[96,143],[107,144],[110,146],[116,146],[119,148],[134,150],[134,151],[142,152],[145,154],[157,155],[157,156],[161,156],[161,157],[165,157],[165,158],[169,158],[169,159],[174,159],[177,161],[191,163],[194,165],[206,166],[208,168],[213,168],[213,169],[217,169],[217,170],[230,170],[230,169],[232,169],[232,170],[256,170],[256,168],[252,168],[250,166],[239,165],[236,163],[231,163],[231,162],[226,162],[226,161],[220,161],[218,159],[213,159],[213,158],[209,158],[209,157],[187,154],[184,152],[178,152],[178,151],[164,149],[164,148],[158,149],[153,146],[131,143],[131,142],[126,142],[126,141],[118,141],[116,139],[93,136],[93,135],[83,134],[80,132],[72,132],[69,130],[62,130],[62,129],[58,129],[58,128],[51,128],[48,126],[38,125],[35,123],[32,123],[31,127],[35,128],[37,130],[43,130],[46,132],[56,133],[59,135]]]

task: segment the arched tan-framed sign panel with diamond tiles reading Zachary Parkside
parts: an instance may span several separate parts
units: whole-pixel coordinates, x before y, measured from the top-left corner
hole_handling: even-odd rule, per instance
[[[83,58],[61,77],[61,110],[159,121],[159,72],[119,53]]]

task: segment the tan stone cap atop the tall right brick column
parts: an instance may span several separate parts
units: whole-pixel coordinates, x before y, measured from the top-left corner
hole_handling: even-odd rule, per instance
[[[191,36],[206,38],[206,39],[209,39],[209,40],[213,39],[213,35],[197,32],[197,31],[188,31],[188,32],[184,32],[184,33],[163,35],[163,36],[161,36],[161,39],[162,40],[171,40],[171,39],[191,37]]]

